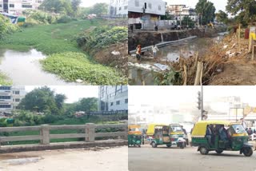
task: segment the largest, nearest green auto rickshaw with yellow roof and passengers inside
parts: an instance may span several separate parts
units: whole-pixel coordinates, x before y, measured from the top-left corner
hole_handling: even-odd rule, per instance
[[[224,150],[240,151],[246,157],[253,154],[253,145],[248,143],[248,134],[240,123],[231,121],[198,121],[191,134],[192,146],[208,154],[210,151],[222,153]]]

